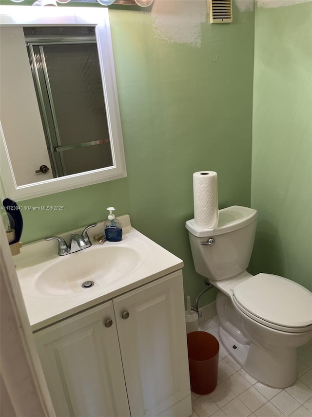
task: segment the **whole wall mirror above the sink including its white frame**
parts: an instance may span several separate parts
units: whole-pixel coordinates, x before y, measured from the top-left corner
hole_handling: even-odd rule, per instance
[[[0,6],[0,48],[6,194],[126,176],[108,10]]]

